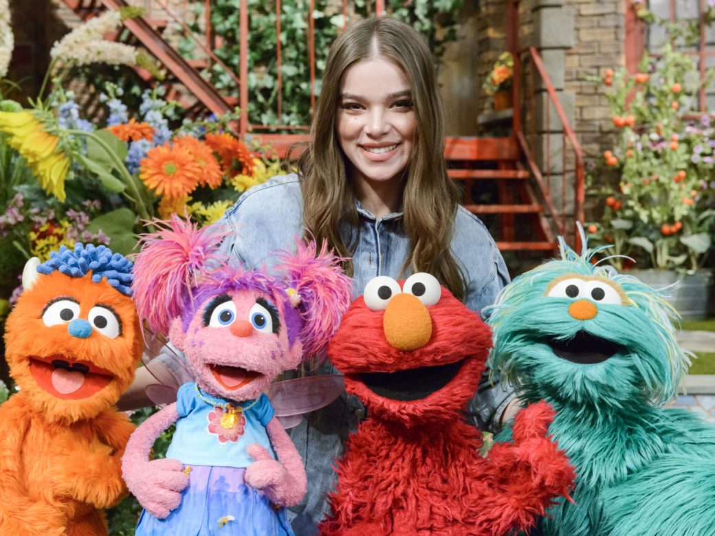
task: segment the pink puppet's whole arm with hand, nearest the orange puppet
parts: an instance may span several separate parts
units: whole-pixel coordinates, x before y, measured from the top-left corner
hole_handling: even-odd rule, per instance
[[[181,504],[181,492],[189,484],[189,475],[179,460],[149,461],[157,437],[179,418],[176,403],[155,413],[134,431],[122,458],[122,472],[127,487],[150,514],[164,519]]]

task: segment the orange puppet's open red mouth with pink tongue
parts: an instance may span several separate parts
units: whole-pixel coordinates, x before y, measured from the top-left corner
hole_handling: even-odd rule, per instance
[[[91,397],[114,378],[109,370],[60,354],[31,357],[30,372],[42,389],[63,400]]]

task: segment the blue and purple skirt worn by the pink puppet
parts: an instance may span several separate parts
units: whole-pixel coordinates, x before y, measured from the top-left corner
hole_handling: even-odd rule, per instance
[[[192,465],[182,501],[166,519],[146,510],[137,536],[295,536],[284,507],[275,507],[262,492],[243,481],[246,470]]]

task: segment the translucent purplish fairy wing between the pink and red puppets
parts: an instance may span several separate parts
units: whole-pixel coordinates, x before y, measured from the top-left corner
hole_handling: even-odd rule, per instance
[[[275,382],[268,388],[268,397],[278,420],[290,428],[302,420],[301,415],[327,406],[344,390],[340,374],[325,374]]]

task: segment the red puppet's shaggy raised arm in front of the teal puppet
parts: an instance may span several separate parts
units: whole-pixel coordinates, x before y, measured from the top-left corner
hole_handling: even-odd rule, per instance
[[[531,404],[514,420],[513,443],[498,443],[489,452],[485,480],[490,492],[483,497],[484,526],[493,534],[528,532],[558,496],[568,497],[573,467],[549,437],[553,409],[546,402]],[[480,522],[479,525],[482,525]]]

